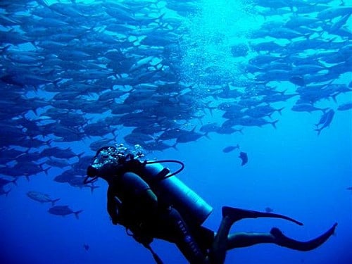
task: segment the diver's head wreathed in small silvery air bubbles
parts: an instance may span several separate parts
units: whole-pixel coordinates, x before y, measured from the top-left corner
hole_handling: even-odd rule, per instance
[[[134,146],[134,149],[136,149],[136,146]],[[117,147],[104,146],[96,151],[92,165],[87,168],[87,177],[94,179],[101,177],[104,180],[109,180],[110,177],[116,175],[118,169],[122,168],[126,161],[134,159],[135,156],[141,158],[143,156],[142,151],[138,151],[135,155],[134,151],[130,151],[123,144]]]

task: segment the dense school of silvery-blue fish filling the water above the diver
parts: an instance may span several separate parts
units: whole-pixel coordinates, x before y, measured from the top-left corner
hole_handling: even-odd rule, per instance
[[[205,32],[194,39],[199,1],[2,0],[0,195],[53,167],[63,169],[56,182],[94,191],[83,184],[93,151],[117,140],[163,151],[209,133],[275,129],[289,103],[321,113],[307,130],[322,134],[351,111],[352,101],[337,99],[352,91],[351,2],[248,2],[263,23],[244,41],[224,42]],[[194,54],[207,37],[225,46],[237,75]],[[222,122],[202,122],[212,116]],[[89,143],[77,153],[68,147],[77,142]],[[81,212],[54,206],[48,194],[27,196],[51,203],[49,213]]]

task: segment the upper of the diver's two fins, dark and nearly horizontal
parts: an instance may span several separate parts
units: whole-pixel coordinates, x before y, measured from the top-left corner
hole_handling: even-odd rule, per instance
[[[291,222],[294,222],[297,225],[303,225],[303,223],[294,220],[293,218],[289,218],[288,216],[285,215],[279,215],[277,213],[264,213],[264,212],[258,212],[255,210],[244,210],[240,208],[233,208],[229,206],[223,206],[222,207],[222,217],[230,217],[233,222],[237,222],[241,219],[244,218],[281,218],[284,220],[289,220]]]

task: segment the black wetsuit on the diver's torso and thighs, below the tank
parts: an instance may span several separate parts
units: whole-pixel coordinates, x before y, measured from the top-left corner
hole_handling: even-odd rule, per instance
[[[186,222],[170,205],[151,204],[144,199],[149,189],[149,184],[133,172],[115,177],[108,187],[108,213],[113,223],[127,227],[142,244],[150,243],[153,238],[163,239],[175,243],[189,263],[205,263],[214,232]]]

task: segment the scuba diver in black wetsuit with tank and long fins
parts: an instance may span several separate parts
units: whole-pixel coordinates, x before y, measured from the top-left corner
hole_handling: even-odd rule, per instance
[[[87,168],[84,182],[99,177],[108,182],[107,210],[113,225],[122,225],[127,234],[151,251],[156,263],[163,263],[151,249],[153,239],[174,243],[189,263],[222,264],[229,249],[271,243],[298,251],[310,251],[334,234],[337,223],[310,241],[286,237],[277,227],[269,233],[230,233],[230,228],[244,218],[281,218],[301,222],[276,213],[264,213],[228,206],[222,207],[218,232],[202,224],[213,208],[175,175],[184,165],[180,161],[140,161],[141,151],[132,153],[122,144],[106,146],[96,152]],[[161,163],[175,162],[180,170],[170,173]]]

